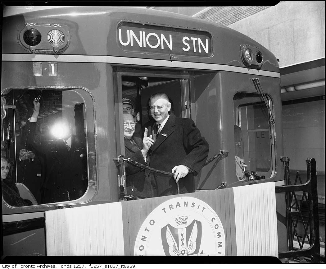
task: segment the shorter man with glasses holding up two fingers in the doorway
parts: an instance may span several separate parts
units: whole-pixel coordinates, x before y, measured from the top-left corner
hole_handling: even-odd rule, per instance
[[[131,114],[127,111],[123,112],[123,128],[125,136],[125,157],[139,162],[144,165],[149,164],[147,152],[153,145],[152,135],[147,137],[147,128],[144,132],[144,138],[134,137],[135,121]],[[134,166],[126,162],[126,195],[132,195],[135,198],[151,198],[155,197],[155,189],[153,189],[151,173],[143,170],[138,166]]]

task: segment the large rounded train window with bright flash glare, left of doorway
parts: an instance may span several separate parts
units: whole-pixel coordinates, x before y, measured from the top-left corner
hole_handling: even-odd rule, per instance
[[[2,174],[3,199],[28,206],[91,198],[97,185],[92,97],[79,88],[11,89],[2,96],[1,160],[10,166]]]

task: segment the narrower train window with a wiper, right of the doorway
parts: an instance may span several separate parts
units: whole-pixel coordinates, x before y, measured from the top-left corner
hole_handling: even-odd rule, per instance
[[[270,178],[274,141],[269,109],[261,95],[239,92],[233,98],[236,175],[239,181]]]

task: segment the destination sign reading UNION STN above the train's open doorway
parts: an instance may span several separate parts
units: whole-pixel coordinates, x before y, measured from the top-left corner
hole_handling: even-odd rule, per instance
[[[117,42],[124,51],[210,57],[212,36],[200,30],[122,22]]]

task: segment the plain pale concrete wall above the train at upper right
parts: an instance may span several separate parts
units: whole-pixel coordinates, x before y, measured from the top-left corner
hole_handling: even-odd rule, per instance
[[[324,1],[282,1],[227,26],[269,49],[280,67],[325,57]]]

